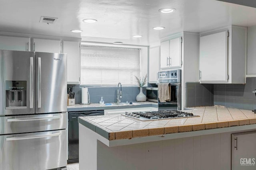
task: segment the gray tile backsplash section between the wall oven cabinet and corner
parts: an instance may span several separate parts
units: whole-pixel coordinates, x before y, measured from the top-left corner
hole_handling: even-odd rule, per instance
[[[186,107],[213,106],[214,89],[212,84],[186,82]]]

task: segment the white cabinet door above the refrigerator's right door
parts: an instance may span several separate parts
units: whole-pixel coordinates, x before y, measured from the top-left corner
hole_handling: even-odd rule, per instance
[[[32,51],[62,53],[60,39],[33,38]]]

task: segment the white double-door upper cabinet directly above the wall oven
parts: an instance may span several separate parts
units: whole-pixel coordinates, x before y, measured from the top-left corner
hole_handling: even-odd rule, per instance
[[[161,42],[160,45],[160,68],[181,67],[182,37]]]

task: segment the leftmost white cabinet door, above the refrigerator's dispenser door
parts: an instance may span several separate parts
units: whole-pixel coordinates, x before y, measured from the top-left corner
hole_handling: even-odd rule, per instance
[[[30,51],[30,37],[0,35],[0,49]]]

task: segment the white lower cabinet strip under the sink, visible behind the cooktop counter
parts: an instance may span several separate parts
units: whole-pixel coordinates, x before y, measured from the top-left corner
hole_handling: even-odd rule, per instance
[[[139,111],[158,111],[158,107],[139,107],[127,109],[107,109],[104,110],[104,115],[124,114],[125,112],[139,112]]]

